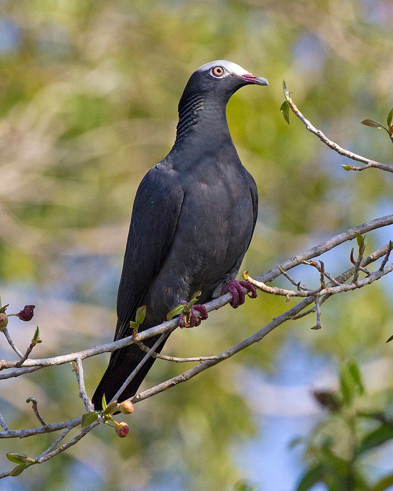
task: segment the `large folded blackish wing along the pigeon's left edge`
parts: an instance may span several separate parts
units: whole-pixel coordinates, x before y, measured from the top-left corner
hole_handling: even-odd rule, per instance
[[[184,194],[170,172],[158,164],[138,188],[117,295],[114,340],[130,335],[130,321],[135,320],[141,298],[159,273],[175,235]]]

